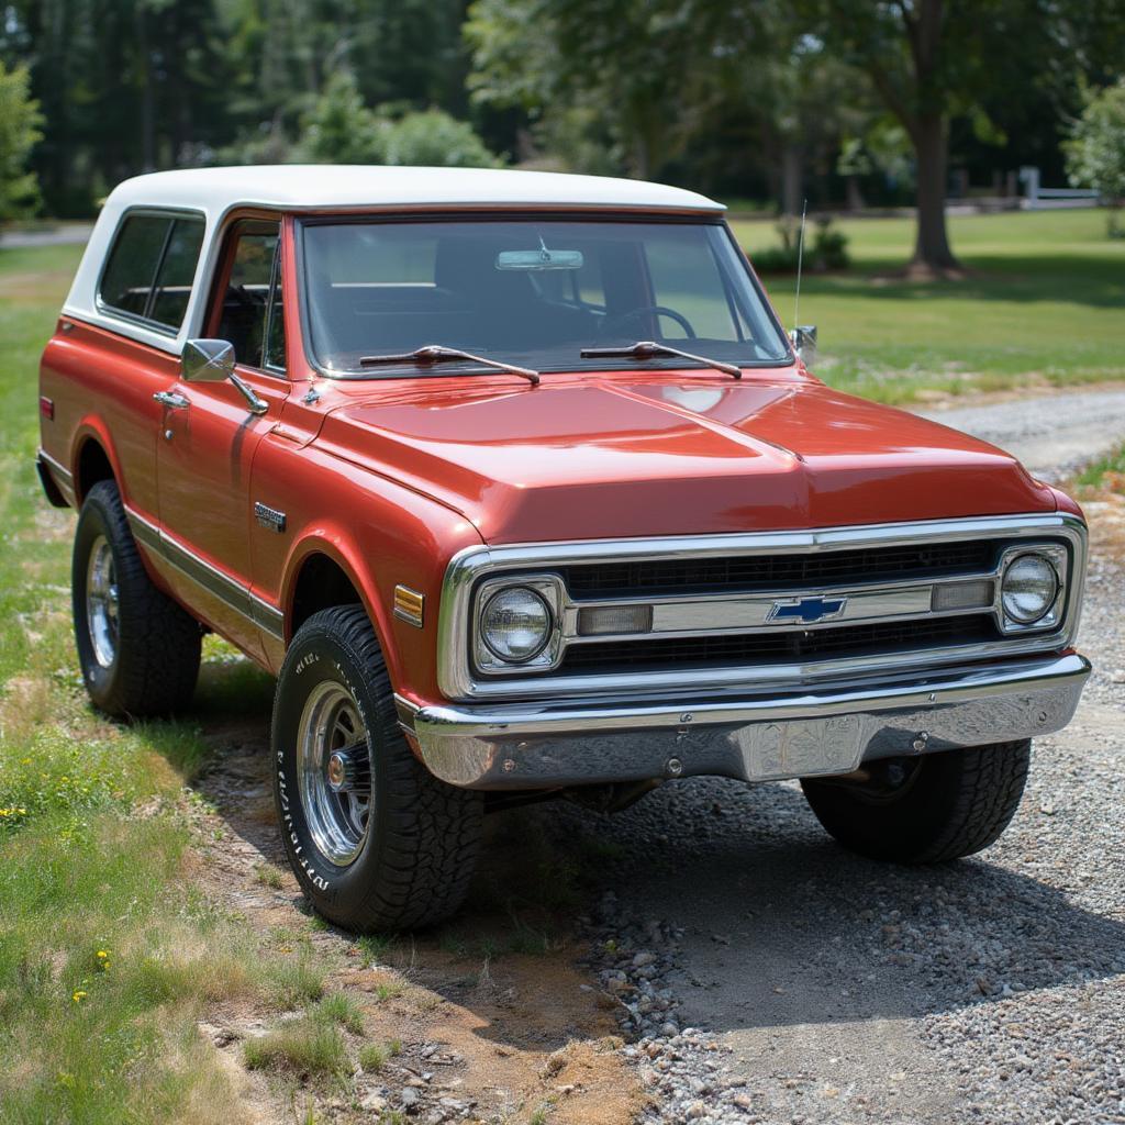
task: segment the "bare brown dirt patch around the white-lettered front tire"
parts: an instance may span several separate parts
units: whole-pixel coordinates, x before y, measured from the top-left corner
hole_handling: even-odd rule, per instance
[[[345,1089],[266,1080],[245,1071],[243,1041],[278,1014],[216,1005],[200,1026],[238,1072],[250,1119],[303,1119],[313,1109],[316,1120],[342,1123],[395,1113],[425,1123],[632,1122],[644,1095],[616,1051],[615,1004],[576,964],[584,951],[569,929],[566,888],[578,857],[551,856],[529,839],[525,818],[498,813],[460,917],[425,934],[357,940],[309,914],[288,868],[264,724],[264,717],[218,720],[205,729],[216,757],[196,784],[208,808],[197,813],[190,875],[274,952],[327,969],[328,990],[362,1012],[362,1036],[346,1036],[353,1058],[363,1044],[395,1050]],[[263,1097],[272,1117],[261,1116]]]

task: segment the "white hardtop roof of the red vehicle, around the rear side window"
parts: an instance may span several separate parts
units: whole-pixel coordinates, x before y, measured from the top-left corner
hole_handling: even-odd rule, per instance
[[[706,212],[726,208],[713,199],[644,180],[567,176],[485,168],[382,168],[378,165],[273,164],[153,172],[119,183],[109,194],[86,248],[63,312],[179,354],[198,335],[201,284],[210,277],[215,232],[235,207],[278,210],[332,208],[403,210],[413,207],[541,206],[566,209]],[[125,323],[98,307],[101,267],[122,214],[130,207],[181,207],[202,214],[207,225],[196,284],[183,325],[174,338]]]

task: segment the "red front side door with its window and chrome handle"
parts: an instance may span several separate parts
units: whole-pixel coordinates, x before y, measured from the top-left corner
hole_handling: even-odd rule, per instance
[[[267,404],[250,410],[231,381],[166,388],[156,478],[164,552],[176,593],[217,632],[261,655],[250,595],[250,467],[289,393],[281,316],[280,224],[227,232],[207,333],[234,345],[237,374]]]

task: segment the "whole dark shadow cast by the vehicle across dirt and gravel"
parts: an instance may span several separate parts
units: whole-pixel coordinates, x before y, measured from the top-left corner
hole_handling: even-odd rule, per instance
[[[272,681],[245,662],[207,666],[198,717],[213,753],[192,784],[237,837],[243,866],[286,872],[277,925],[279,909],[295,921],[310,911],[273,813],[271,696]],[[555,1050],[580,1029],[573,1005],[552,1006],[551,981],[588,953],[588,917],[619,944],[651,920],[681,930],[681,1023],[717,1032],[914,1017],[1125,971],[1125,924],[1071,901],[1061,857],[1001,840],[946,866],[875,863],[834,844],[793,784],[694,778],[615,816],[552,802],[496,813],[487,828],[464,911],[386,943],[386,960],[474,1011],[475,1035],[518,1048]],[[332,927],[321,936],[356,940]],[[506,1018],[508,980],[534,1018]],[[603,999],[604,1030],[615,1004]]]

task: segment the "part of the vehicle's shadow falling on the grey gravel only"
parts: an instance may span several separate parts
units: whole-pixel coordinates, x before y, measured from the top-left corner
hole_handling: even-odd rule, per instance
[[[909,1017],[1125,972],[1125,924],[990,853],[935,867],[852,855],[793,784],[668,785],[603,832],[621,909],[684,930],[682,1023]],[[1065,885],[1061,857],[1019,858]]]

